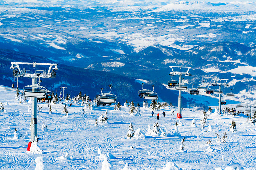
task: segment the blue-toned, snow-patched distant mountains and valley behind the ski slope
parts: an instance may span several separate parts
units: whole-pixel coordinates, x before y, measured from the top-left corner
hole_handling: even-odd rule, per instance
[[[101,87],[108,91],[113,84],[121,102],[142,102],[136,79],[144,79],[148,89],[155,84],[160,98],[175,104],[177,95],[162,85],[171,79],[169,66],[191,66],[193,76],[184,79],[189,88],[226,78],[230,87],[225,93],[232,88],[240,96],[253,97],[256,13],[233,8],[235,2],[155,1],[158,5],[147,6],[152,1],[139,1],[143,7],[135,1],[122,7],[102,6],[106,1],[79,7],[20,2],[0,2],[5,4],[0,7],[2,73],[11,73],[11,61],[54,62],[62,69],[56,80],[44,81],[51,90],[67,84],[72,87],[67,93],[84,89],[94,97]],[[254,7],[253,3],[236,5]],[[201,9],[202,5],[207,6]],[[182,9],[185,6],[191,10]],[[4,85],[14,82],[10,75],[1,76]]]

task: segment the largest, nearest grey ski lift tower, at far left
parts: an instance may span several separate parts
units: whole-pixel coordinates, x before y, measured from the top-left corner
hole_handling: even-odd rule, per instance
[[[23,66],[24,69],[21,69],[20,66]],[[32,70],[25,70],[25,67],[31,67]],[[37,70],[36,66],[45,66],[48,67],[48,70]],[[53,68],[54,67],[54,68]],[[27,87],[31,88],[27,91],[24,96],[32,97],[32,113],[31,113],[31,142],[35,141],[35,137],[37,136],[37,97],[44,97],[46,94],[46,90],[42,90],[42,86],[40,86],[40,82],[37,83],[37,78],[55,78],[56,72],[58,70],[57,64],[51,63],[26,63],[26,62],[11,62],[11,69],[13,69],[13,76],[15,77],[28,77],[32,78],[32,85]]]

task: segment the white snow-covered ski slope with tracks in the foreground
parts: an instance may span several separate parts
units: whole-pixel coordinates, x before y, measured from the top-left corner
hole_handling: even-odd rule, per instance
[[[72,107],[67,107],[69,116],[64,117],[63,104],[51,104],[52,114],[49,114],[48,104],[38,103],[43,107],[42,113],[37,114],[38,147],[43,154],[32,154],[26,151],[29,139],[24,139],[26,131],[30,138],[28,106],[31,104],[28,100],[15,101],[14,95],[15,92],[0,90],[0,102],[6,110],[0,112],[0,169],[256,169],[256,126],[245,123],[247,116],[207,113],[207,125],[202,129],[202,111],[185,108],[176,130],[180,136],[175,134],[175,123],[179,120],[174,107],[155,110],[154,117],[151,110],[142,106],[141,116],[130,116],[130,107],[122,106],[121,111],[115,111],[113,105],[85,109],[83,114],[81,104],[72,102]],[[66,104],[69,106],[70,102]],[[170,114],[172,109],[174,115]],[[94,126],[106,110],[108,123],[98,122]],[[233,133],[232,120],[237,128]],[[43,122],[47,128],[42,131]],[[147,134],[148,125],[154,129],[154,122],[158,122],[165,135]],[[134,131],[140,128],[145,138],[127,139],[130,123]],[[14,139],[15,128],[18,139]],[[222,138],[224,132],[228,137],[226,143],[217,141],[216,133]],[[209,140],[211,145],[207,144]]]

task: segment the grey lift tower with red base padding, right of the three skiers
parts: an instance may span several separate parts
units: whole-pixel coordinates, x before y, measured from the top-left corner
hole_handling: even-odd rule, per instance
[[[182,118],[182,90],[186,90],[187,89],[187,86],[186,87],[182,87],[182,76],[191,76],[191,74],[189,73],[189,69],[191,67],[179,67],[179,66],[169,66],[171,69],[172,69],[172,72],[170,72],[170,76],[175,76],[175,75],[178,75],[179,76],[179,85],[176,86],[179,90],[179,97],[178,97],[178,111],[179,113],[177,114],[177,117],[176,118]],[[180,71],[175,71],[175,68],[179,68]],[[187,70],[185,72],[182,72],[182,70]]]

